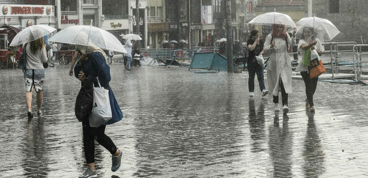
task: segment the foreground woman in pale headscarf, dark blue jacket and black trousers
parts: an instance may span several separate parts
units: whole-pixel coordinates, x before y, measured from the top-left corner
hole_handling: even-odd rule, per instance
[[[81,34],[82,33],[79,33],[79,35]],[[88,36],[86,37],[86,34],[81,35],[79,38],[81,41],[86,41],[87,39]],[[85,43],[82,42],[82,44]],[[91,41],[88,42],[88,45],[91,46],[76,45],[78,50],[82,53],[82,56],[74,67],[74,75],[82,81],[82,84],[87,81],[86,79],[92,78],[96,85],[96,77],[98,77],[101,86],[109,90],[112,118],[99,127],[91,127],[88,118],[82,120],[83,146],[88,168],[79,178],[97,177],[97,172],[95,170],[95,140],[112,154],[111,170],[113,172],[120,168],[121,157],[123,156],[123,151],[117,149],[114,142],[105,134],[106,125],[120,121],[121,118],[119,115],[123,115],[109,85],[111,75],[110,66],[107,64],[107,56],[102,49],[96,47]]]

